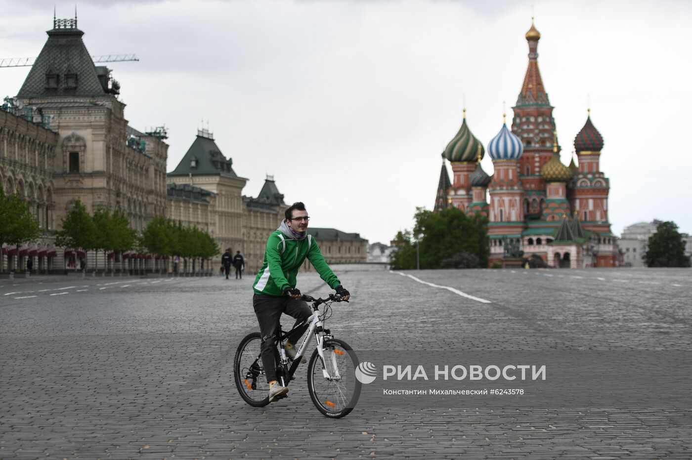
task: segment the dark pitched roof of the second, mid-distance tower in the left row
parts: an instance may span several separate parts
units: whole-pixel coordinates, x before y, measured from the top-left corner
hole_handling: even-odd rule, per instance
[[[227,159],[224,154],[221,154],[214,139],[198,134],[176,169],[168,173],[168,176],[189,176],[192,174],[192,176],[238,177],[231,165],[233,165],[233,160]]]

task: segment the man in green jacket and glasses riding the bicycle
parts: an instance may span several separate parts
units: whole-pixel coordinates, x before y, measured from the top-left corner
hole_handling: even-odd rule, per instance
[[[317,242],[307,233],[309,219],[303,203],[293,203],[286,210],[281,226],[266,241],[264,263],[253,284],[253,307],[260,322],[262,364],[269,383],[269,401],[289,391],[276,378],[274,349],[280,332],[281,314],[295,318],[294,327],[305,322],[304,326],[291,333],[286,342],[286,355],[291,359],[295,359],[295,344],[307,330],[307,320],[313,314],[307,302],[300,300],[300,291],[295,287],[295,277],[303,261],[307,258],[325,283],[336,290],[343,300],[350,297],[322,257]]]

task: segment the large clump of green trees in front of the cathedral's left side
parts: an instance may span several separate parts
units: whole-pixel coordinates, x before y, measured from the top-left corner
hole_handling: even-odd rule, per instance
[[[418,208],[413,232],[399,232],[392,267],[416,268],[419,245],[420,268],[444,266],[477,268],[488,266],[487,219],[479,214],[467,216],[457,208],[431,212]],[[418,241],[418,243],[417,243]]]

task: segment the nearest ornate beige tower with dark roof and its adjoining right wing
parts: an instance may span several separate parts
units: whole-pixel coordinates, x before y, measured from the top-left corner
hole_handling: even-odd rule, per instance
[[[77,19],[56,19],[17,95],[17,104],[57,132],[54,225],[79,198],[89,212],[125,210],[136,230],[165,211],[165,130],[127,125],[120,84],[95,66]]]

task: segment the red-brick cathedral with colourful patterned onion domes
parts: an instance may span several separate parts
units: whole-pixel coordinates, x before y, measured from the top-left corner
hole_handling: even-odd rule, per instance
[[[435,211],[454,206],[487,217],[491,264],[511,264],[523,251],[524,258],[540,257],[553,267],[614,267],[610,181],[599,169],[603,137],[589,114],[574,138],[577,163],[574,157],[569,166],[561,162],[553,107],[538,70],[540,33],[533,21],[526,39],[529,66],[512,107],[511,131],[503,120],[488,144],[493,175],[480,165],[485,149],[468,129],[464,109],[462,127],[442,154]]]

